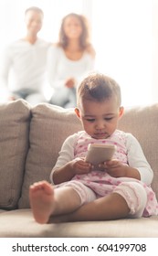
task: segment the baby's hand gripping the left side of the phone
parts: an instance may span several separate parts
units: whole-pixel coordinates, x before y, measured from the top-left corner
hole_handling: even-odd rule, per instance
[[[93,166],[90,165],[90,163],[85,162],[84,158],[78,157],[71,161],[71,167],[75,175],[84,175],[90,173]]]

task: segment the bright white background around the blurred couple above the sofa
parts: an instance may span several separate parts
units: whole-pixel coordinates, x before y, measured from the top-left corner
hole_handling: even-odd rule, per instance
[[[121,85],[124,106],[158,101],[158,0],[5,0],[0,1],[0,51],[26,32],[24,12],[43,9],[39,34],[58,40],[61,18],[70,12],[90,20],[96,70]]]

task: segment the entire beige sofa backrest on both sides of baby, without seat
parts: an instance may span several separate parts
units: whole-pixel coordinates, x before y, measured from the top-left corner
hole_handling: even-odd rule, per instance
[[[153,168],[158,198],[158,104],[126,109],[119,128],[132,133]],[[29,208],[28,188],[46,179],[68,135],[81,130],[73,110],[18,100],[0,104],[0,208]],[[29,144],[28,144],[29,142]]]

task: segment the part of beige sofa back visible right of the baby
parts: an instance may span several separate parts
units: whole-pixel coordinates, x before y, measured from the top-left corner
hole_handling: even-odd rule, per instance
[[[126,109],[119,128],[132,133],[153,169],[153,190],[158,199],[158,104]]]

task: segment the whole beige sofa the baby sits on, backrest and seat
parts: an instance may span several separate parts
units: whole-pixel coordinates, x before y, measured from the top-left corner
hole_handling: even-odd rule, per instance
[[[158,103],[126,108],[119,128],[132,133],[153,168],[158,198]],[[0,237],[1,238],[157,238],[158,216],[111,221],[38,224],[28,189],[49,181],[61,144],[81,129],[73,109],[24,100],[0,104]]]

